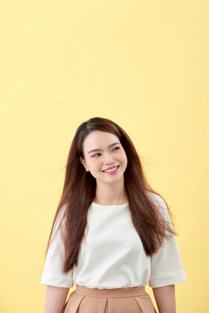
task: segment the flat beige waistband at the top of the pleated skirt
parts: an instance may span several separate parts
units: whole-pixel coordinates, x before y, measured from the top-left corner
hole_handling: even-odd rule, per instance
[[[97,298],[124,298],[145,295],[145,287],[117,288],[117,289],[98,289],[76,286],[74,293],[92,296]]]

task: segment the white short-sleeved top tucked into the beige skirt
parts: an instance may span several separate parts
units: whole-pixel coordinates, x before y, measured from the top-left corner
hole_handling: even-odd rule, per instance
[[[169,220],[164,200],[155,194],[153,197],[164,218]],[[77,266],[67,274],[62,273],[64,251],[57,235],[48,249],[42,284],[111,289],[144,286],[147,283],[151,287],[161,287],[186,280],[173,235],[165,239],[151,257],[145,254],[133,227],[128,203],[99,205],[92,202],[87,222]]]

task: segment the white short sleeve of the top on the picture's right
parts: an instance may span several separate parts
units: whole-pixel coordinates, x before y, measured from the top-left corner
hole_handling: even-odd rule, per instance
[[[159,197],[158,203],[164,218],[170,221],[164,200]],[[149,286],[152,288],[186,281],[177,243],[174,235],[164,239],[162,246],[151,256],[151,274]]]

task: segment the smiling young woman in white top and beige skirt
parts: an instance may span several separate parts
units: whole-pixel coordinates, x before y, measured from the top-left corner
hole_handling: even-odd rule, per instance
[[[185,275],[168,208],[111,120],[77,128],[48,242],[44,313],[154,313],[147,283],[159,313],[175,313]]]

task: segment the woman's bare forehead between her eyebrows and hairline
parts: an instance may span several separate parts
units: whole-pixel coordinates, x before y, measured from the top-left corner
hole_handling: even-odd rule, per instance
[[[94,130],[85,137],[83,141],[83,150],[85,151],[90,148],[102,148],[114,142],[120,143],[118,137],[113,133]]]

